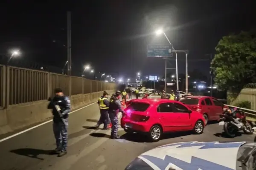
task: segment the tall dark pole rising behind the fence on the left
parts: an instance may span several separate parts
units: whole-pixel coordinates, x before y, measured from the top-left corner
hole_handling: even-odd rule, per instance
[[[67,11],[67,75],[69,76],[69,96],[71,96],[71,12]]]

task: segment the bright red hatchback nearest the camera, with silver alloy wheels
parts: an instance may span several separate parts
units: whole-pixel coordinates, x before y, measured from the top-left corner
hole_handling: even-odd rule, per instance
[[[204,131],[201,113],[190,110],[181,102],[168,99],[135,99],[125,108],[121,126],[126,133],[146,133],[152,142],[162,133],[193,130]]]

